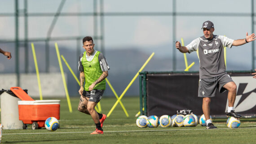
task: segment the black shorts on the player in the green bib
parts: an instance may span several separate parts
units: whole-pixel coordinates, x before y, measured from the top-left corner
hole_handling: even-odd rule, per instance
[[[83,96],[89,97],[88,101],[93,101],[98,103],[102,99],[104,90],[92,90],[92,91],[83,91]]]

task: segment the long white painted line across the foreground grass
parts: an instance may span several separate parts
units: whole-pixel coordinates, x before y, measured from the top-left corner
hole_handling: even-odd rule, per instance
[[[255,129],[256,127],[243,127],[237,129]],[[152,131],[201,131],[201,130],[231,130],[231,128],[218,128],[218,129],[182,129],[182,130],[137,130],[137,131],[104,131],[104,133],[125,133],[125,132],[152,132]],[[37,135],[37,134],[71,134],[71,133],[91,133],[93,131],[76,131],[76,132],[44,132],[44,133],[14,133],[14,134],[2,134],[2,135]]]

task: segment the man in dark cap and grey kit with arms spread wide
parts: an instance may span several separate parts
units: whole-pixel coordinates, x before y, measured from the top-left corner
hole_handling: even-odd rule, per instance
[[[199,54],[199,89],[198,96],[203,97],[203,114],[206,118],[207,129],[217,128],[210,120],[211,98],[215,96],[216,89],[219,92],[228,90],[228,110],[226,115],[241,118],[234,112],[234,101],[236,97],[236,84],[226,72],[223,48],[239,46],[255,40],[255,34],[248,35],[245,39],[229,39],[222,35],[213,35],[214,26],[211,21],[203,22],[203,36],[194,39],[187,46],[181,46],[176,42],[176,48],[182,53],[198,51]]]

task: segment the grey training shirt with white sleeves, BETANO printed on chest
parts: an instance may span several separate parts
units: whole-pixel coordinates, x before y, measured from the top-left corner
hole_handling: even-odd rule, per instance
[[[233,41],[222,35],[213,35],[212,39],[206,39],[203,35],[186,46],[189,53],[198,50],[199,79],[213,78],[226,73],[223,49],[231,48]]]

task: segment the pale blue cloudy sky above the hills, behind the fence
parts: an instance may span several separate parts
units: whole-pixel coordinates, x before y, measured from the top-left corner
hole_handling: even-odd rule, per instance
[[[55,13],[61,0],[27,0],[28,13]],[[97,5],[99,11],[99,3]],[[256,1],[254,0],[254,3]],[[105,13],[171,13],[172,0],[104,0]],[[24,9],[24,0],[19,0],[19,12]],[[246,32],[252,33],[251,0],[176,0],[176,39],[172,38],[172,16],[110,16],[104,17],[104,44],[108,49],[137,48],[154,57],[172,57],[174,41],[184,39],[185,45],[203,35],[202,23],[210,20],[215,26],[215,35],[226,35],[231,39],[243,39]],[[256,10],[255,10],[256,11]],[[13,13],[14,0],[0,0],[0,13]],[[93,0],[66,0],[62,13],[92,13]],[[179,13],[201,13],[200,16]],[[219,13],[212,16],[210,13]],[[248,16],[223,16],[222,13],[242,13]],[[98,20],[100,20],[98,18]],[[46,38],[53,17],[29,17],[29,38]],[[15,39],[14,17],[0,16],[0,39]],[[93,35],[92,16],[58,17],[51,37]],[[98,35],[100,27],[98,24]],[[19,18],[19,38],[24,38],[24,18]],[[96,41],[99,48],[100,41]],[[76,48],[75,40],[59,41],[70,49]],[[13,51],[13,48],[10,48]],[[175,51],[177,57],[183,54]],[[229,61],[252,67],[252,44],[227,50]],[[188,61],[196,54],[187,54]],[[243,57],[243,59],[241,59]],[[192,62],[192,61],[191,61]],[[190,63],[191,63],[190,62]],[[184,63],[184,61],[182,62]]]

